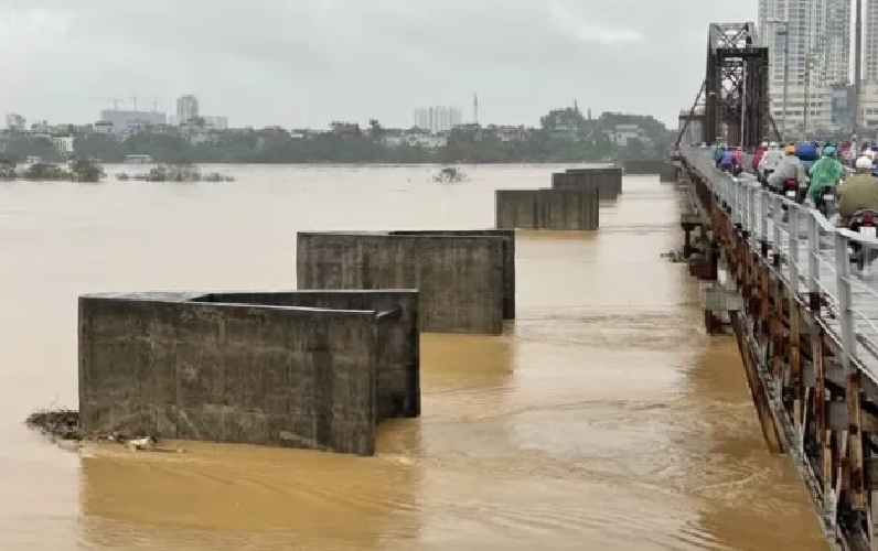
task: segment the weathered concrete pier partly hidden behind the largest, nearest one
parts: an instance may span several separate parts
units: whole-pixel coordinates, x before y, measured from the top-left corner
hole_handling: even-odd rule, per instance
[[[300,233],[299,289],[417,289],[420,327],[503,333],[510,302],[506,235]]]

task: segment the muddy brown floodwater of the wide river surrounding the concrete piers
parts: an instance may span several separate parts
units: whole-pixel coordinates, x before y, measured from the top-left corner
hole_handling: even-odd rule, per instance
[[[0,184],[0,550],[826,549],[768,454],[737,347],[702,331],[673,186],[627,177],[596,234],[521,233],[502,337],[424,335],[424,417],[375,457],[183,443],[75,453],[76,296],[295,285],[296,231],[493,225],[553,166],[247,166],[231,184]],[[111,172],[111,171],[110,171]]]

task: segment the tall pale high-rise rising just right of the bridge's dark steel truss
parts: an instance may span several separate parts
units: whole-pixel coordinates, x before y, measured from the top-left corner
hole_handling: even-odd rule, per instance
[[[771,112],[778,127],[799,134],[829,131],[833,89],[849,82],[850,0],[759,0],[759,31],[769,46]]]

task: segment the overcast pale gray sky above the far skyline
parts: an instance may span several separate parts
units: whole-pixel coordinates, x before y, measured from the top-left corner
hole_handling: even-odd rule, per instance
[[[194,94],[233,126],[410,126],[449,105],[537,125],[553,107],[676,126],[707,24],[757,0],[0,0],[0,111],[90,122],[105,98],[173,112]],[[120,107],[130,107],[127,100]]]

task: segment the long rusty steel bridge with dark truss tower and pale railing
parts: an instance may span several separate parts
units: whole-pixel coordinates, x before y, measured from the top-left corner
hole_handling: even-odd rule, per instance
[[[780,139],[768,104],[768,48],[752,23],[711,24],[707,74],[686,125],[746,149]],[[683,120],[683,117],[682,117]],[[681,132],[681,137],[685,132]],[[703,148],[682,149],[689,271],[703,281],[708,333],[741,352],[769,447],[795,463],[836,549],[878,549],[878,282],[816,210],[734,177]],[[697,236],[693,237],[693,234]]]

